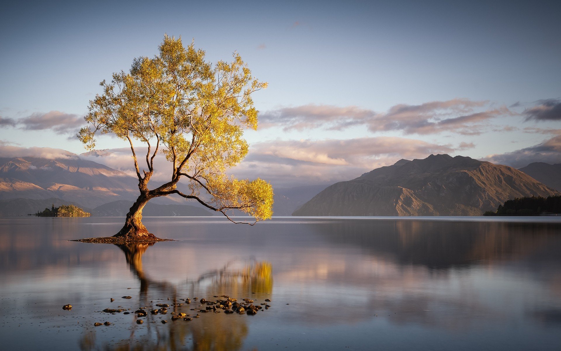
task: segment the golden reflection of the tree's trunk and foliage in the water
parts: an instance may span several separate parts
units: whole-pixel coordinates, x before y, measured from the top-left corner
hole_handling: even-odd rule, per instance
[[[150,298],[154,296],[169,296],[171,305],[169,312],[185,312],[194,316],[196,311],[191,311],[198,303],[182,304],[178,300],[186,292],[167,281],[151,279],[142,267],[142,255],[150,244],[117,245],[123,253],[131,272],[140,281],[140,304],[151,306]],[[271,294],[273,290],[272,265],[265,261],[254,261],[250,264],[236,266],[236,262],[228,262],[220,270],[214,270],[200,275],[197,279],[187,281],[187,291],[201,291],[205,285],[207,292],[220,291],[219,294],[241,296],[241,294]],[[209,294],[210,295],[210,294]],[[200,307],[202,308],[202,307]],[[197,308],[199,309],[199,308]],[[131,314],[131,316],[133,316]],[[123,329],[128,338],[123,338],[119,343],[108,343],[103,340],[98,343],[95,331],[82,336],[80,349],[82,350],[240,350],[248,334],[246,315],[226,313],[201,313],[199,318],[185,321],[183,318],[171,320],[172,314],[167,314],[168,323],[162,324],[160,316],[148,313],[145,323],[132,324],[132,327]],[[134,318],[134,317],[133,317]],[[153,323],[156,321],[157,323]]]

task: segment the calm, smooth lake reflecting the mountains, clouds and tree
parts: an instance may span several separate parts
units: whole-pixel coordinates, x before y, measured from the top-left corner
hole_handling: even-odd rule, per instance
[[[143,222],[177,241],[68,241],[123,218],[0,218],[1,349],[561,349],[560,217]],[[220,295],[270,308],[199,311]]]

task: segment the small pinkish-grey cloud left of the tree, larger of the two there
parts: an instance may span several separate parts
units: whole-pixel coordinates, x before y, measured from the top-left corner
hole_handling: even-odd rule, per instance
[[[84,118],[81,116],[60,111],[35,112],[28,117],[20,118],[18,121],[21,129],[50,129],[57,134],[75,133],[84,123]]]

